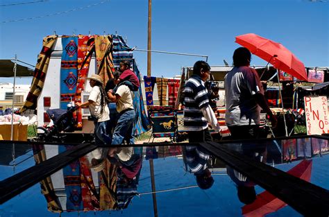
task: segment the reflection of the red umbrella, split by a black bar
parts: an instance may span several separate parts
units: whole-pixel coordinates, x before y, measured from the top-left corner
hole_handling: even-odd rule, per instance
[[[312,160],[303,159],[302,162],[294,166],[287,173],[301,178],[307,182],[310,182],[312,171]],[[269,191],[264,191],[258,194],[256,200],[251,205],[245,205],[242,207],[242,214],[244,216],[265,216],[274,211],[278,211],[287,204],[282,200],[273,196]]]

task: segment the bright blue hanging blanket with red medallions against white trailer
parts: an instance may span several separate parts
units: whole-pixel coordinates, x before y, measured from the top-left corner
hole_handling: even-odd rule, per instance
[[[62,36],[62,61],[60,63],[60,108],[75,100],[78,63],[78,37]]]

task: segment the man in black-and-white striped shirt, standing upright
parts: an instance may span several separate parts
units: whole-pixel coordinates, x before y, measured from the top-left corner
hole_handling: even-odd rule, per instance
[[[193,75],[185,85],[184,126],[189,142],[212,141],[208,123],[214,130],[220,131],[217,118],[209,105],[208,91],[205,89],[204,82],[209,76],[209,64],[197,61],[193,67]]]

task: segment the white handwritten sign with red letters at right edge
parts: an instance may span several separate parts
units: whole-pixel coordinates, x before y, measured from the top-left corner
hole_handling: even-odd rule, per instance
[[[304,97],[307,135],[329,133],[327,96]]]

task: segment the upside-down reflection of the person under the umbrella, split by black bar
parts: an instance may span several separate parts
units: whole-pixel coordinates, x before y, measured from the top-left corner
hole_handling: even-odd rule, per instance
[[[236,150],[243,155],[251,157],[258,162],[266,163],[267,148],[266,145],[260,144],[230,144],[230,148]],[[226,166],[226,172],[233,182],[237,186],[237,196],[240,202],[246,205],[253,203],[256,200],[255,183],[248,177],[239,173],[230,166]]]

